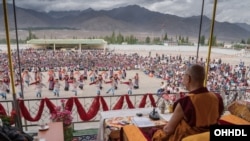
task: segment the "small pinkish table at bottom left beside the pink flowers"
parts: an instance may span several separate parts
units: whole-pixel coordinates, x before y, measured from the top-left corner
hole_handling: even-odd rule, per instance
[[[39,130],[38,137],[46,141],[64,141],[62,122],[51,122],[48,130]]]

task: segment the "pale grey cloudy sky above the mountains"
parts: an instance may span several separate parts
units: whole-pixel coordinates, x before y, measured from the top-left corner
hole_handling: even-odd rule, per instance
[[[12,0],[8,0],[11,2]],[[204,0],[204,15],[212,17],[214,0]],[[200,15],[202,0],[16,0],[16,6],[38,11],[110,10],[127,5],[139,5],[151,11],[189,17]],[[248,23],[250,0],[218,0],[216,21]]]

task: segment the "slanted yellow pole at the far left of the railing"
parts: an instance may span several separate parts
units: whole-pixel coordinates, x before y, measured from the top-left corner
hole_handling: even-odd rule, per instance
[[[16,110],[16,126],[20,130],[22,130],[22,123],[20,118],[20,110],[18,101],[16,99],[16,91],[15,91],[15,83],[14,83],[14,75],[13,75],[13,64],[12,64],[12,53],[10,48],[10,37],[9,37],[9,26],[8,26],[8,14],[7,14],[7,6],[6,0],[3,0],[3,10],[4,10],[4,23],[5,23],[5,32],[6,32],[6,43],[7,43],[7,50],[8,50],[8,61],[9,61],[9,71],[10,71],[10,80],[11,80],[11,90],[13,93],[13,108]]]

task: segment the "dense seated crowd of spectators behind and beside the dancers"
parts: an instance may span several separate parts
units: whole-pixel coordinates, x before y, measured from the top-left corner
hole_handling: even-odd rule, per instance
[[[19,76],[19,64],[22,72],[24,70],[46,72],[51,69],[58,72],[65,69],[67,72],[87,70],[88,74],[92,71],[100,74],[101,71],[138,69],[149,77],[162,79],[162,85],[170,93],[180,91],[182,75],[187,67],[193,63],[206,65],[205,58],[196,59],[194,56],[183,57],[168,54],[140,56],[138,53],[104,53],[102,50],[53,51],[23,49],[19,51],[19,62],[17,53],[16,51],[12,53],[16,77]],[[1,79],[9,78],[7,56],[6,53],[0,54]],[[207,76],[207,87],[211,91],[242,90],[247,89],[250,85],[250,68],[243,61],[240,61],[238,65],[232,65],[224,63],[220,58],[211,59]]]

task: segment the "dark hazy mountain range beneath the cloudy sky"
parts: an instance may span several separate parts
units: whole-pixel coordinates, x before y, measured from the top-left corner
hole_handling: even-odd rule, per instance
[[[0,25],[4,25],[2,7],[2,4],[0,4]],[[12,5],[7,5],[7,9],[9,28],[14,29]],[[144,36],[161,36],[167,33],[168,36],[173,37],[188,36],[197,38],[200,26],[200,16],[178,17],[153,12],[138,5],[119,7],[112,10],[96,11],[89,8],[82,11],[67,11],[65,9],[65,11],[51,11],[48,13],[16,7],[16,17],[18,29],[57,29],[57,32],[59,32],[59,29],[99,33],[119,31],[121,33],[144,33]],[[210,26],[211,20],[203,16],[201,35],[205,35],[207,39],[210,35]],[[0,30],[4,29],[4,26],[0,26]],[[60,36],[60,34],[57,36]],[[214,36],[216,36],[217,40],[224,42],[247,40],[250,38],[250,25],[215,21]]]

